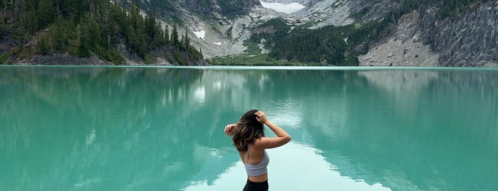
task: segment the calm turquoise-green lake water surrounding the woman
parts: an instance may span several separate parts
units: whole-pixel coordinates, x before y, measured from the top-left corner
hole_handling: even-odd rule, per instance
[[[497,69],[26,66],[0,67],[0,190],[242,190],[223,128],[251,108],[293,137],[270,190],[498,187]]]

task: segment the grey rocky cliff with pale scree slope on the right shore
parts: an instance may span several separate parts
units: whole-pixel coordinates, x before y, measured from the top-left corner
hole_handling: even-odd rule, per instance
[[[350,1],[352,11],[370,7],[360,21],[382,18],[398,6],[390,0]],[[438,9],[422,6],[403,16],[388,38],[360,56],[360,65],[498,67],[498,1],[446,19],[437,17]]]

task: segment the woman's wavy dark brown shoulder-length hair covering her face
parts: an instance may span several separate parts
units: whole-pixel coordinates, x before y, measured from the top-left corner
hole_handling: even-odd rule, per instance
[[[264,137],[263,123],[256,119],[258,110],[249,110],[239,119],[235,128],[229,135],[232,135],[232,141],[235,148],[239,151],[246,151],[247,145],[253,144],[259,138]]]

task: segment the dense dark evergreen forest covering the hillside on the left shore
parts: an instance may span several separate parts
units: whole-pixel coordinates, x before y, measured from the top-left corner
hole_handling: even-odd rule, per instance
[[[112,1],[100,0],[2,0],[1,36],[11,35],[19,56],[48,53],[91,55],[116,64],[128,54],[146,63],[156,57],[185,65],[202,59],[177,25],[162,27],[153,11],[142,16],[137,6],[127,12]],[[24,46],[37,41],[35,48]]]

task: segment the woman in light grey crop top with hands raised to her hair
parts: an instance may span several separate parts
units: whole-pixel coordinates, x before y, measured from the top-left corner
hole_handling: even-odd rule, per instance
[[[273,138],[264,136],[264,125],[276,135]],[[261,110],[249,110],[242,115],[236,124],[225,126],[224,133],[232,136],[235,148],[239,151],[247,172],[247,183],[244,191],[268,190],[269,163],[267,148],[278,148],[289,143],[291,136],[279,126],[271,123]]]

